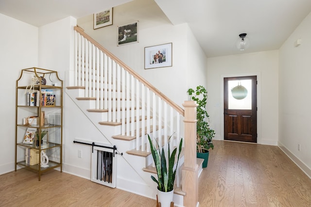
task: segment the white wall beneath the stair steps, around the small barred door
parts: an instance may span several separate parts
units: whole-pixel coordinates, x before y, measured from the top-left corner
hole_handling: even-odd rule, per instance
[[[133,156],[126,151],[133,149],[136,140],[123,141],[111,138],[113,135],[121,134],[121,127],[102,126],[98,124],[101,115],[86,111],[89,106],[86,101],[77,100],[79,92],[67,90],[65,98],[69,109],[65,109],[66,134],[64,144],[72,145],[64,151],[64,172],[72,175],[91,178],[91,146],[73,143],[76,141],[100,142],[116,145],[118,152],[123,156],[117,156],[117,188],[133,192],[145,197],[156,199],[156,184],[150,176],[151,173],[144,172],[146,158]],[[70,107],[69,107],[70,106]],[[82,151],[82,158],[78,158],[78,150]],[[154,174],[154,176],[156,176]]]

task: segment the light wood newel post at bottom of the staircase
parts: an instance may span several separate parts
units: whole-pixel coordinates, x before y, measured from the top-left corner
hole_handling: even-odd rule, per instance
[[[182,168],[182,191],[185,207],[198,206],[198,165],[196,163],[196,101],[185,101],[185,161]]]

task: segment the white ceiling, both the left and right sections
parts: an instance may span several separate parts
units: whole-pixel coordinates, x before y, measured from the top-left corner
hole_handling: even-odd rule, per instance
[[[129,1],[0,0],[0,13],[39,27],[67,16],[80,18]],[[155,2],[174,25],[189,24],[207,57],[278,49],[311,12],[311,0]],[[250,39],[250,47],[245,51],[235,46],[240,33],[247,33]]]

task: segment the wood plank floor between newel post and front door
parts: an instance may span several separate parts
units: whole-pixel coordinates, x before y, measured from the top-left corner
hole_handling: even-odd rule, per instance
[[[214,141],[202,207],[311,207],[311,179],[277,146]]]

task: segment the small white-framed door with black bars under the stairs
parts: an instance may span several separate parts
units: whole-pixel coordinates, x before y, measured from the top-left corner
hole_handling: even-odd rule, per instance
[[[116,157],[113,149],[93,147],[91,181],[116,188]]]

